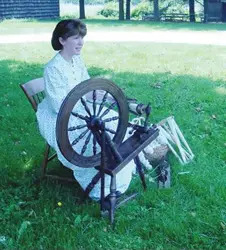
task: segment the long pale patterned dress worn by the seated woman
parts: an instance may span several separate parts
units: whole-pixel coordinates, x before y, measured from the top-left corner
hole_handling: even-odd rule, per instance
[[[72,63],[69,63],[60,53],[57,53],[45,66],[46,97],[38,105],[36,113],[41,135],[56,150],[61,163],[73,171],[75,179],[84,190],[96,175],[97,170],[95,168],[81,168],[68,162],[58,148],[55,130],[57,114],[62,101],[74,86],[87,79],[89,79],[89,75],[79,55],[75,55],[72,58]],[[135,164],[131,161],[116,175],[117,190],[121,193],[124,193],[129,187],[134,168]],[[105,195],[108,195],[110,193],[110,177],[106,175],[105,179]],[[100,182],[89,195],[94,200],[100,199]]]

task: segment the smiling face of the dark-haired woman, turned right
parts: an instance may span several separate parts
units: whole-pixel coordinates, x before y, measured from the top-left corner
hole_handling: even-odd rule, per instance
[[[80,55],[84,40],[83,37],[78,35],[70,36],[67,39],[60,38],[60,43],[63,46],[63,50],[67,52],[68,55]]]

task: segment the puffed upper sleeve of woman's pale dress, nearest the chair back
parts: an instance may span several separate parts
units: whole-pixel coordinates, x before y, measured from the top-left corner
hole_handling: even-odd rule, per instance
[[[54,66],[47,66],[44,69],[44,82],[46,99],[52,110],[58,113],[67,94],[62,73]]]

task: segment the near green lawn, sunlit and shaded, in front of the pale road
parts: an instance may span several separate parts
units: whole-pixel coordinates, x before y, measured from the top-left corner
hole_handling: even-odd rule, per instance
[[[17,24],[24,30],[49,25]],[[174,115],[195,154],[186,166],[170,157],[168,190],[144,193],[134,178],[128,192],[140,196],[116,211],[113,230],[97,203],[81,203],[78,185],[34,184],[44,141],[19,83],[40,77],[54,52],[46,43],[0,45],[0,249],[225,249],[225,52],[217,46],[86,43],[90,75],[111,78],[127,96],[150,101],[153,122]]]

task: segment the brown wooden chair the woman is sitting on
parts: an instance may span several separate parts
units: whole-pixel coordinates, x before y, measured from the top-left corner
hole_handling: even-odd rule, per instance
[[[44,99],[44,79],[36,78],[27,83],[20,84],[24,94],[30,102],[33,110],[36,112],[38,104]],[[50,175],[46,173],[48,163],[56,157],[56,153],[51,155],[50,146],[46,143],[44,158],[41,164],[41,178],[51,177],[58,180],[74,181],[74,179],[64,178],[56,175]]]

